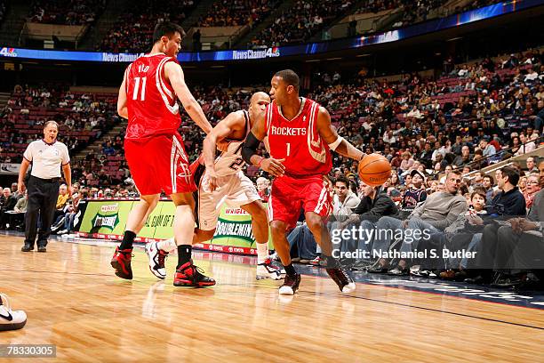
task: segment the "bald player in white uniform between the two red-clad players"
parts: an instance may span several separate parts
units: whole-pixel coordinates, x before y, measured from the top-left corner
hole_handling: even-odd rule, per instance
[[[193,245],[213,238],[223,203],[232,208],[240,207],[252,216],[252,232],[257,242],[257,279],[280,279],[284,271],[274,266],[268,258],[266,208],[252,181],[240,170],[244,166],[242,144],[252,129],[252,120],[264,114],[268,103],[270,97],[267,93],[253,93],[249,110],[228,114],[204,139],[204,153],[191,165],[198,186],[197,228]],[[227,141],[228,149],[215,157],[220,141]],[[149,270],[157,278],[165,277],[164,255],[175,249],[175,246],[173,238],[146,246]]]

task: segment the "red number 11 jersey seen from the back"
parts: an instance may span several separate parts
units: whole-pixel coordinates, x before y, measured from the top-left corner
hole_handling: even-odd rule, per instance
[[[169,61],[178,62],[164,53],[147,54],[128,67],[125,82],[129,116],[126,139],[173,135],[180,127],[176,95],[172,85],[164,79],[164,65]]]

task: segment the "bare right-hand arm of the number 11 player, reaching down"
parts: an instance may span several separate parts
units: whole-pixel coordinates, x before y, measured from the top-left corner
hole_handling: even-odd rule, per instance
[[[210,133],[212,131],[212,125],[210,125],[208,119],[204,115],[204,111],[195,100],[195,97],[193,97],[193,94],[189,91],[180,65],[173,61],[167,62],[164,65],[164,76],[170,81],[181,104],[188,115],[195,121],[196,125],[198,125],[204,133]]]

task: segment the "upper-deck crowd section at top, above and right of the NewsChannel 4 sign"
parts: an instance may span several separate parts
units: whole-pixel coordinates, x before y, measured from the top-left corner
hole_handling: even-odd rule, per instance
[[[250,46],[252,48],[266,48],[308,42],[312,35],[352,5],[352,2],[342,0],[319,2],[297,0],[291,8],[282,12],[269,27],[253,36]]]

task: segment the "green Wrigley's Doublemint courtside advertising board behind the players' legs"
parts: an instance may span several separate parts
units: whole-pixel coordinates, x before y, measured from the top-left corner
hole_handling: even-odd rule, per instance
[[[132,205],[132,200],[88,200],[78,228],[81,237],[121,240]],[[148,222],[140,230],[137,242],[154,242],[173,237],[172,224],[175,206],[170,200],[161,200]],[[273,249],[271,238],[268,248]],[[252,217],[241,208],[222,206],[211,241],[196,248],[235,254],[257,254],[252,234]]]

